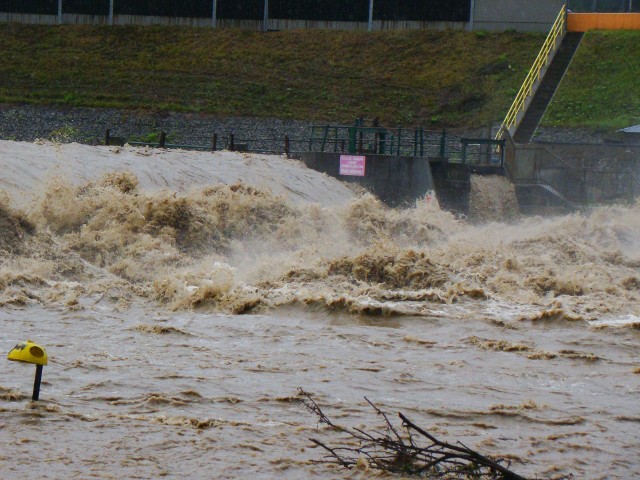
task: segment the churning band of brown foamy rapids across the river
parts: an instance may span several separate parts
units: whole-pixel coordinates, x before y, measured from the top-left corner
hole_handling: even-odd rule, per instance
[[[81,309],[116,288],[124,308],[150,298],[231,313],[299,303],[420,315],[425,301],[490,299],[551,307],[533,321],[636,315],[639,209],[474,226],[369,195],[327,208],[243,184],[178,195],[141,191],[127,172],[55,179],[26,213],[0,204],[0,304]]]

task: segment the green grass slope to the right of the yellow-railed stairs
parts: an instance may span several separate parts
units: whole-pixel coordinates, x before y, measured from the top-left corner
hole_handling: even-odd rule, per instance
[[[606,131],[640,123],[640,32],[589,32],[543,125]]]

